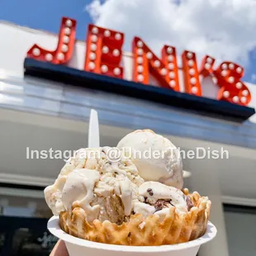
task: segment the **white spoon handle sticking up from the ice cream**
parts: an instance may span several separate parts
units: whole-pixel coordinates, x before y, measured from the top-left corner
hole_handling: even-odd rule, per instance
[[[98,148],[100,146],[100,132],[98,125],[97,111],[91,110],[89,130],[88,130],[88,148]]]

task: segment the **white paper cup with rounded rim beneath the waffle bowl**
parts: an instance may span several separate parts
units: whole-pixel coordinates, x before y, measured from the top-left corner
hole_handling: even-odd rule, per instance
[[[208,221],[206,234],[198,239],[182,244],[162,246],[124,246],[113,244],[101,244],[85,239],[79,239],[65,233],[59,227],[59,217],[53,216],[48,221],[50,233],[64,240],[69,256],[196,256],[201,244],[206,244],[216,236],[215,225]]]

